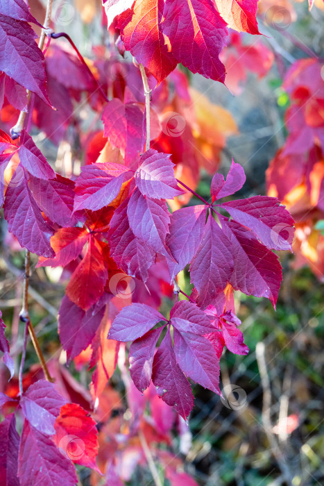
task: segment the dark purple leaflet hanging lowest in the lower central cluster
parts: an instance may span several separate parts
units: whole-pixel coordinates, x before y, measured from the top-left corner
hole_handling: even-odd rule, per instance
[[[162,400],[187,419],[194,406],[194,396],[189,381],[176,362],[169,329],[155,353],[152,380]]]

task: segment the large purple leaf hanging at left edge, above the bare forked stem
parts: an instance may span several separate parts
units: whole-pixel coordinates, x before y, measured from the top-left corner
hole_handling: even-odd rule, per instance
[[[4,215],[11,231],[23,248],[32,253],[51,258],[55,255],[49,240],[53,230],[44,221],[28,186],[26,172],[19,185],[9,185],[4,203]]]

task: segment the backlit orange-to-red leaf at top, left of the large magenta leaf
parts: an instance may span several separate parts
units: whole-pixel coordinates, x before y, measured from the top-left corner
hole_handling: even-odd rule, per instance
[[[126,50],[142,63],[160,84],[176,68],[162,33],[164,0],[136,0],[133,12],[121,26]]]

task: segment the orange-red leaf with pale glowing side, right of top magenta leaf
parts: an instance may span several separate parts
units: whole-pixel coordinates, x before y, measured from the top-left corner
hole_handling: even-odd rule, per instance
[[[259,34],[257,0],[216,0],[216,6],[230,28],[238,32]]]

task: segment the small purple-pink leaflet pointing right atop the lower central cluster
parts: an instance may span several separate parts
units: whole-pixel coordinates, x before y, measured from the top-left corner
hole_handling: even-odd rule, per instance
[[[171,309],[170,319],[171,324],[180,332],[203,335],[214,330],[209,317],[193,302],[176,302]]]

